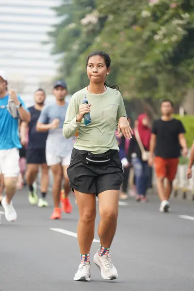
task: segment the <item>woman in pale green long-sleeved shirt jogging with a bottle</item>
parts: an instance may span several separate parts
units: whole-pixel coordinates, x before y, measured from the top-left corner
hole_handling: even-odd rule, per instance
[[[98,226],[101,246],[94,256],[94,262],[103,279],[118,277],[109,256],[117,225],[119,189],[123,182],[115,129],[117,127],[118,133],[122,131],[127,138],[131,138],[132,130],[118,88],[106,86],[110,65],[109,55],[102,51],[88,56],[86,68],[89,86],[71,97],[63,126],[65,138],[74,136],[79,130],[67,169],[80,214],[78,242],[81,263],[74,277],[76,281],[90,281],[89,253],[94,239],[96,195],[101,218]],[[84,96],[89,105],[81,104]],[[85,113],[90,113],[92,120],[87,126],[83,120]]]

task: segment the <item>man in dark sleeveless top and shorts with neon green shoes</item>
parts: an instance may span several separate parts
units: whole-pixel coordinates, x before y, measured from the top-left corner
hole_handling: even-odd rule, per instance
[[[38,88],[34,93],[35,104],[29,107],[31,121],[21,124],[21,143],[27,146],[27,172],[26,180],[29,187],[28,200],[32,205],[38,204],[38,207],[48,207],[46,200],[49,186],[49,167],[46,162],[46,141],[48,132],[37,132],[36,124],[40,113],[45,106],[46,93]],[[27,138],[28,136],[28,144]],[[41,167],[40,191],[41,197],[38,198],[33,183],[35,182],[38,170]]]

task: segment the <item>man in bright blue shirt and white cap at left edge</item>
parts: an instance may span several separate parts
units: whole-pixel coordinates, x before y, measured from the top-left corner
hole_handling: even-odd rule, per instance
[[[4,176],[5,197],[1,204],[5,211],[5,218],[11,222],[17,218],[12,198],[16,193],[16,182],[19,174],[19,148],[21,144],[18,134],[18,118],[29,122],[31,114],[23,100],[13,90],[7,92],[7,77],[0,71],[0,174]],[[17,117],[13,117],[9,110],[9,99],[12,108],[16,109]]]

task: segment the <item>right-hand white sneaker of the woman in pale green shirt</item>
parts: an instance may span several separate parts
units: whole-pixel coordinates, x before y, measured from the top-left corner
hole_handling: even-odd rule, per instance
[[[104,280],[114,280],[118,277],[118,273],[111,261],[110,255],[100,257],[98,250],[94,255],[94,263],[99,268]]]

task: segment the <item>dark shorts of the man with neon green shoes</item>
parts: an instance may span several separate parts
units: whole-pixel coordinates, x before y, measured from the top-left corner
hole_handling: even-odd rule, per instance
[[[47,163],[45,148],[28,148],[26,154],[27,163]]]

